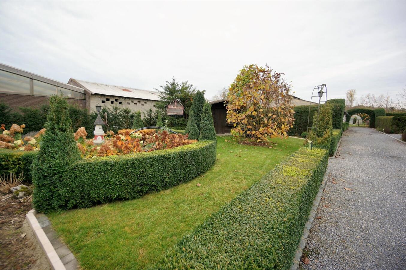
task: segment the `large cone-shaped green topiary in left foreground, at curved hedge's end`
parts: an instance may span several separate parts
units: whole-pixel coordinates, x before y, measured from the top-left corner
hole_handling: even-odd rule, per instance
[[[32,198],[35,209],[50,212],[63,208],[60,194],[69,165],[80,159],[69,118],[68,103],[62,96],[50,97],[50,110],[41,148],[32,165]]]

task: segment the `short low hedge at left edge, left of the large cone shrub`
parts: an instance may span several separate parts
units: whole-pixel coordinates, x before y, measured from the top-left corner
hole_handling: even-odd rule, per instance
[[[18,176],[23,173],[24,182],[32,183],[31,165],[37,154],[37,151],[0,149],[0,175],[14,172]]]

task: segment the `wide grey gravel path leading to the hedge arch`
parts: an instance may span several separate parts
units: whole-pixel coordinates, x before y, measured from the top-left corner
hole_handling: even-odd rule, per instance
[[[406,144],[351,127],[328,170],[300,268],[405,269]]]

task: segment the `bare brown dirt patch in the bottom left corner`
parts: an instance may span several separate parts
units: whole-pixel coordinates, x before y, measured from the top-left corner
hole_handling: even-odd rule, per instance
[[[18,200],[13,194],[0,193],[1,269],[51,269],[26,221],[31,209],[31,197]]]

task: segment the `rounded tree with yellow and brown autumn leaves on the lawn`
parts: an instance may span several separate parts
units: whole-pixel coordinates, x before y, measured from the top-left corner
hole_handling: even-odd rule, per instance
[[[229,87],[227,123],[232,124],[235,137],[251,137],[266,143],[269,138],[287,137],[292,127],[291,85],[283,73],[272,71],[267,65],[246,65]]]

